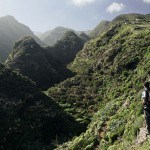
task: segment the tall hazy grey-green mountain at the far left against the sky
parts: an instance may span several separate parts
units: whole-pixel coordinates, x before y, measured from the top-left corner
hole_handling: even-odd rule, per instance
[[[37,43],[44,45],[29,27],[19,23],[14,17],[5,16],[0,18],[0,62],[8,57],[15,42],[26,35],[32,36]]]

